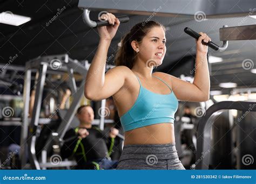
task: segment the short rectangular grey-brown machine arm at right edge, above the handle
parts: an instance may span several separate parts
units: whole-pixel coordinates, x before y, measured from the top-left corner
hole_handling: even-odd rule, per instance
[[[255,10],[256,11],[256,10]],[[220,40],[256,40],[256,24],[220,28]]]

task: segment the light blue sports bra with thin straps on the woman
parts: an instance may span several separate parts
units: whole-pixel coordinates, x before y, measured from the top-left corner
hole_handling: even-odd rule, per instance
[[[160,81],[163,81],[157,76]],[[137,100],[132,108],[120,117],[124,131],[137,129],[158,123],[173,123],[174,114],[178,109],[178,99],[172,89],[170,94],[163,95],[153,93],[142,86],[137,76],[140,88]]]

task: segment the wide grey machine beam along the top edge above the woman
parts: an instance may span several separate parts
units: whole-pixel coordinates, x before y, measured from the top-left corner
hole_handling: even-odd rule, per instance
[[[105,0],[104,2],[79,0],[78,7],[89,10],[104,10],[112,13],[188,18],[194,18],[194,15],[197,15],[197,13],[201,11],[207,18],[224,18],[247,16],[250,9],[255,7],[254,4],[254,0],[119,0],[118,2],[112,0]],[[251,12],[251,15],[255,15],[256,13],[256,11]]]

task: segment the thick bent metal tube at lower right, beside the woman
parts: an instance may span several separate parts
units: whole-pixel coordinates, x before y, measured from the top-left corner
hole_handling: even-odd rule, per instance
[[[211,149],[211,127],[214,123],[214,118],[223,110],[228,109],[246,111],[250,109],[250,111],[256,111],[256,108],[252,108],[254,106],[256,106],[256,102],[223,101],[213,104],[207,109],[206,114],[200,119],[198,124],[196,160],[200,161],[198,161],[196,169],[208,169],[210,154],[204,153]]]

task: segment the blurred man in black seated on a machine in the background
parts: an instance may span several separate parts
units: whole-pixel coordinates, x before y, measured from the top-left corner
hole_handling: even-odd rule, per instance
[[[116,168],[117,161],[112,161],[110,155],[118,130],[113,128],[109,133],[103,133],[93,126],[94,112],[90,105],[79,107],[77,117],[80,121],[78,128],[70,129],[64,136],[63,158],[75,156],[77,169]]]

